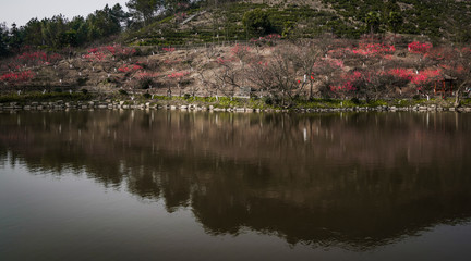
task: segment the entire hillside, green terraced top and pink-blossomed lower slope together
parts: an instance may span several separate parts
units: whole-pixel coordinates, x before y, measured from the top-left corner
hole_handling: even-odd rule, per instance
[[[438,39],[440,35],[400,34],[424,17],[420,10],[428,7],[425,13],[434,14],[442,7],[434,1],[410,2],[359,1],[355,9],[348,1],[315,0],[189,5],[184,15],[157,17],[148,26],[123,33],[113,44],[56,52],[22,48],[1,60],[0,89],[251,96],[287,107],[314,97],[456,96],[458,102],[470,91],[471,48],[444,36]],[[448,2],[467,15],[466,2]],[[374,11],[379,8],[384,11]],[[376,13],[394,13],[389,10],[396,8],[404,10],[402,22],[387,32],[384,17]],[[439,17],[450,11],[443,10]],[[355,18],[347,20],[348,13]],[[367,23],[362,22],[364,13]]]

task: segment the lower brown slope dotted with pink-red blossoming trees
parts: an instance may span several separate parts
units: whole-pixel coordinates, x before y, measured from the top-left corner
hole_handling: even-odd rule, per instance
[[[366,37],[289,42],[270,35],[247,44],[193,48],[92,48],[69,58],[25,52],[3,63],[2,89],[253,96],[289,104],[300,97],[377,99],[469,91],[470,48]],[[5,62],[5,61],[3,61]],[[452,85],[442,86],[444,79]],[[438,85],[438,88],[437,88]],[[442,92],[437,92],[442,91]]]

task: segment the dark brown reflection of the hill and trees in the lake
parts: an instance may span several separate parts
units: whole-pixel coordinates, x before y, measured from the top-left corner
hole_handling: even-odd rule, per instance
[[[0,114],[0,157],[190,206],[208,233],[371,247],[471,216],[468,114]]]

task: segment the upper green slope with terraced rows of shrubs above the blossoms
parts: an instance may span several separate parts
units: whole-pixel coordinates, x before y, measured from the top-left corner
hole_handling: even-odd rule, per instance
[[[191,45],[224,40],[250,40],[276,33],[283,38],[315,38],[326,33],[342,38],[359,38],[365,33],[425,35],[432,40],[468,42],[471,33],[469,1],[420,0],[305,0],[305,1],[229,1],[210,4],[203,1],[174,15],[123,35],[128,44]],[[247,32],[244,14],[255,9],[268,17],[269,27]],[[196,15],[188,23],[185,18]]]

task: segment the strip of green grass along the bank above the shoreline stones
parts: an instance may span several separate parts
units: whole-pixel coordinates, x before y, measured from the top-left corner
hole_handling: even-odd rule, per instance
[[[107,96],[97,96],[97,95],[90,95],[90,94],[82,94],[82,92],[28,92],[24,95],[17,95],[17,94],[8,94],[8,95],[1,95],[0,96],[0,103],[8,104],[9,102],[16,102],[20,105],[26,104],[28,102],[51,102],[51,101],[58,101],[63,100],[64,102],[68,101],[88,101],[92,99],[95,100],[105,100],[109,99],[110,97]],[[214,105],[215,108],[221,108],[221,109],[228,109],[228,108],[252,108],[252,109],[282,109],[283,107],[279,103],[280,100],[276,99],[269,99],[269,98],[250,98],[250,99],[243,99],[243,98],[230,98],[230,97],[191,97],[191,96],[183,96],[183,97],[167,97],[167,96],[154,96],[154,99],[145,98],[144,96],[137,96],[134,101],[131,101],[128,96],[119,95],[117,94],[116,97],[112,98],[114,101],[124,101],[124,104],[134,104],[134,102],[137,103],[145,103],[145,102],[153,102],[156,104],[198,104],[198,105]],[[388,107],[414,107],[414,105],[431,105],[436,104],[438,107],[443,108],[449,108],[452,107],[455,99],[454,98],[431,98],[430,100],[426,99],[392,99],[392,100],[341,100],[341,99],[330,99],[330,98],[314,98],[314,99],[302,99],[298,98],[294,100],[287,100],[287,104],[290,104],[290,109],[341,109],[341,108],[355,108],[355,107],[362,107],[362,108],[376,108],[382,105],[388,105]],[[463,98],[461,99],[461,105],[463,107],[471,107],[471,99],[470,98]]]

